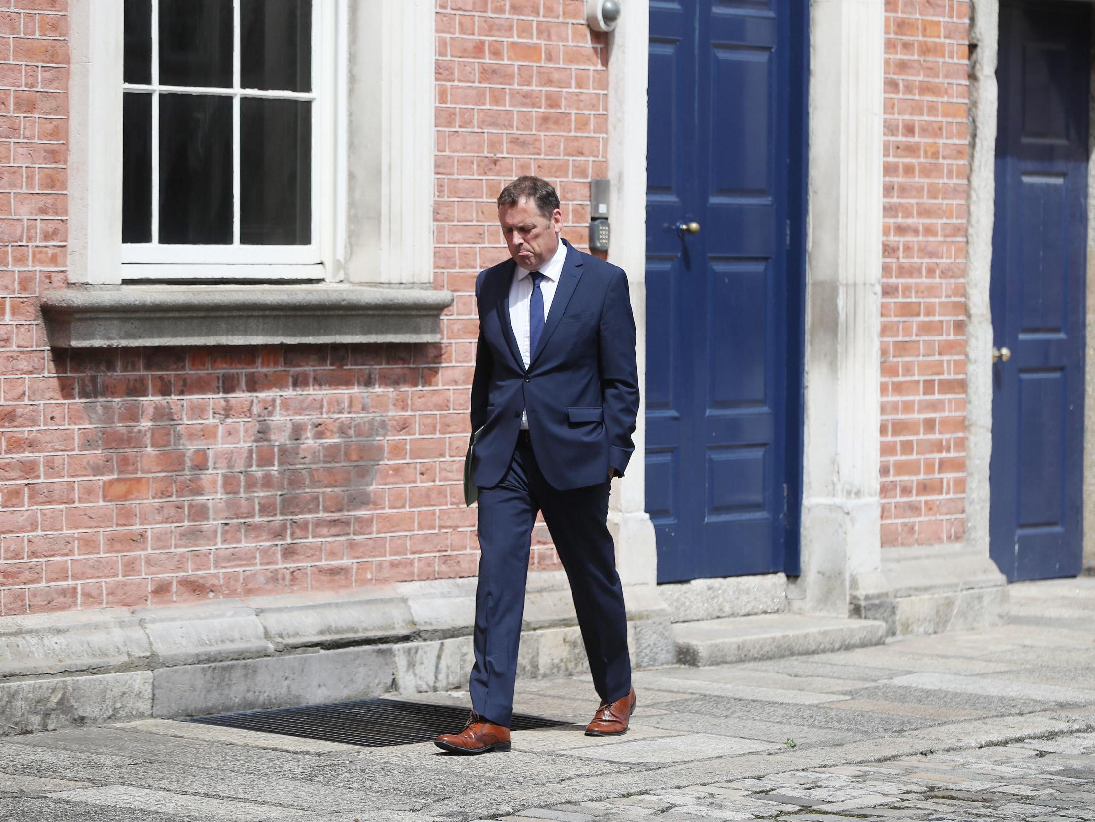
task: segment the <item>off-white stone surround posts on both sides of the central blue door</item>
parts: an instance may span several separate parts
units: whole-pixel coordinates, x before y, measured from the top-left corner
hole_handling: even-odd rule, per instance
[[[880,584],[884,9],[877,0],[814,0],[811,8],[803,575],[792,585],[792,595],[803,609],[844,615],[853,585]],[[648,10],[647,0],[624,7],[609,59],[614,198],[609,259],[630,276],[641,367],[648,332],[644,287]],[[632,457],[637,466],[644,464],[643,416],[641,411]],[[621,576],[625,585],[654,585],[657,560],[654,532],[644,512],[643,471],[629,471],[618,486],[611,517],[620,540]]]

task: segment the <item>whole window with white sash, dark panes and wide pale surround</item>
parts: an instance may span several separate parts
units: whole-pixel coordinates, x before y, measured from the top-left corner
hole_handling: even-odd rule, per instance
[[[70,0],[69,282],[433,287],[435,15]]]

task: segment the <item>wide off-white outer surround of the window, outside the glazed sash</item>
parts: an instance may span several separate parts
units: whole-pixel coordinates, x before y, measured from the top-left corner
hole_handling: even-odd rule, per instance
[[[333,106],[328,118],[334,125],[322,149],[330,189],[313,196],[322,259],[310,266],[307,279],[433,287],[434,1],[315,3],[334,9],[328,12],[332,50],[313,49],[313,61],[323,64],[314,77],[318,82],[325,78],[323,95]],[[136,263],[122,243],[119,172],[123,0],[70,0],[69,21],[69,282],[262,279],[288,285],[301,279],[301,272],[291,271],[297,263],[249,264],[219,255],[207,263],[141,264],[158,271],[141,281],[130,276]],[[313,152],[319,145],[313,140]],[[205,248],[216,254],[228,247]]]

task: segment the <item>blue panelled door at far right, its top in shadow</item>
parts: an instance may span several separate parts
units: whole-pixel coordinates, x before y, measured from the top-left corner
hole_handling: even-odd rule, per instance
[[[1001,4],[990,537],[1008,580],[1081,570],[1090,32],[1083,3]]]

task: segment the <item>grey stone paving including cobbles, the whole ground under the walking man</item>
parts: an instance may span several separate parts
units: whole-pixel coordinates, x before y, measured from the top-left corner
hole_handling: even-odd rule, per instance
[[[1011,624],[636,672],[622,739],[588,677],[509,754],[361,749],[172,720],[0,738],[0,822],[1095,820],[1095,578],[1015,585]],[[466,705],[466,694],[411,697]]]

